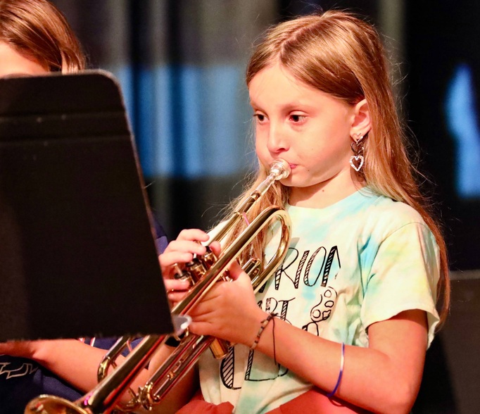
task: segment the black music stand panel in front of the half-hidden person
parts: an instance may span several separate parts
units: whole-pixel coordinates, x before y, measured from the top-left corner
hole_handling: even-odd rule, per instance
[[[112,75],[0,80],[0,341],[173,332]]]

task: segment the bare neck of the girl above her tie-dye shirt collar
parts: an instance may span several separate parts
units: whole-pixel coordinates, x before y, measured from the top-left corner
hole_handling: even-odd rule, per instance
[[[337,175],[310,187],[292,187],[289,204],[297,207],[325,208],[365,187],[355,174]]]

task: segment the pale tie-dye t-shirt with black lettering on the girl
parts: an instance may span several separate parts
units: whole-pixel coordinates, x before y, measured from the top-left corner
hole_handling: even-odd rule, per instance
[[[417,211],[368,189],[327,208],[286,209],[291,244],[257,294],[263,310],[311,334],[367,347],[369,325],[422,309],[430,344],[438,322],[438,248]],[[274,235],[265,255],[276,246]],[[311,387],[242,345],[220,362],[205,353],[200,378],[206,401],[230,401],[239,414],[265,413]]]

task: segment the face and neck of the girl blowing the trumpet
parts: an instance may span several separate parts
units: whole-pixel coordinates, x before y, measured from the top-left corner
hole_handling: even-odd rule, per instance
[[[257,73],[248,89],[258,158],[266,166],[274,158],[290,164],[282,184],[291,187],[292,205],[324,206],[355,191],[349,163],[355,106],[299,82],[279,64]]]

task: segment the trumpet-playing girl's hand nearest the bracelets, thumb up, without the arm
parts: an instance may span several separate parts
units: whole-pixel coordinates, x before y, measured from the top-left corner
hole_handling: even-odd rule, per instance
[[[232,281],[217,282],[189,313],[189,330],[251,346],[267,314],[258,307],[250,277],[240,265],[234,262],[229,272]]]

